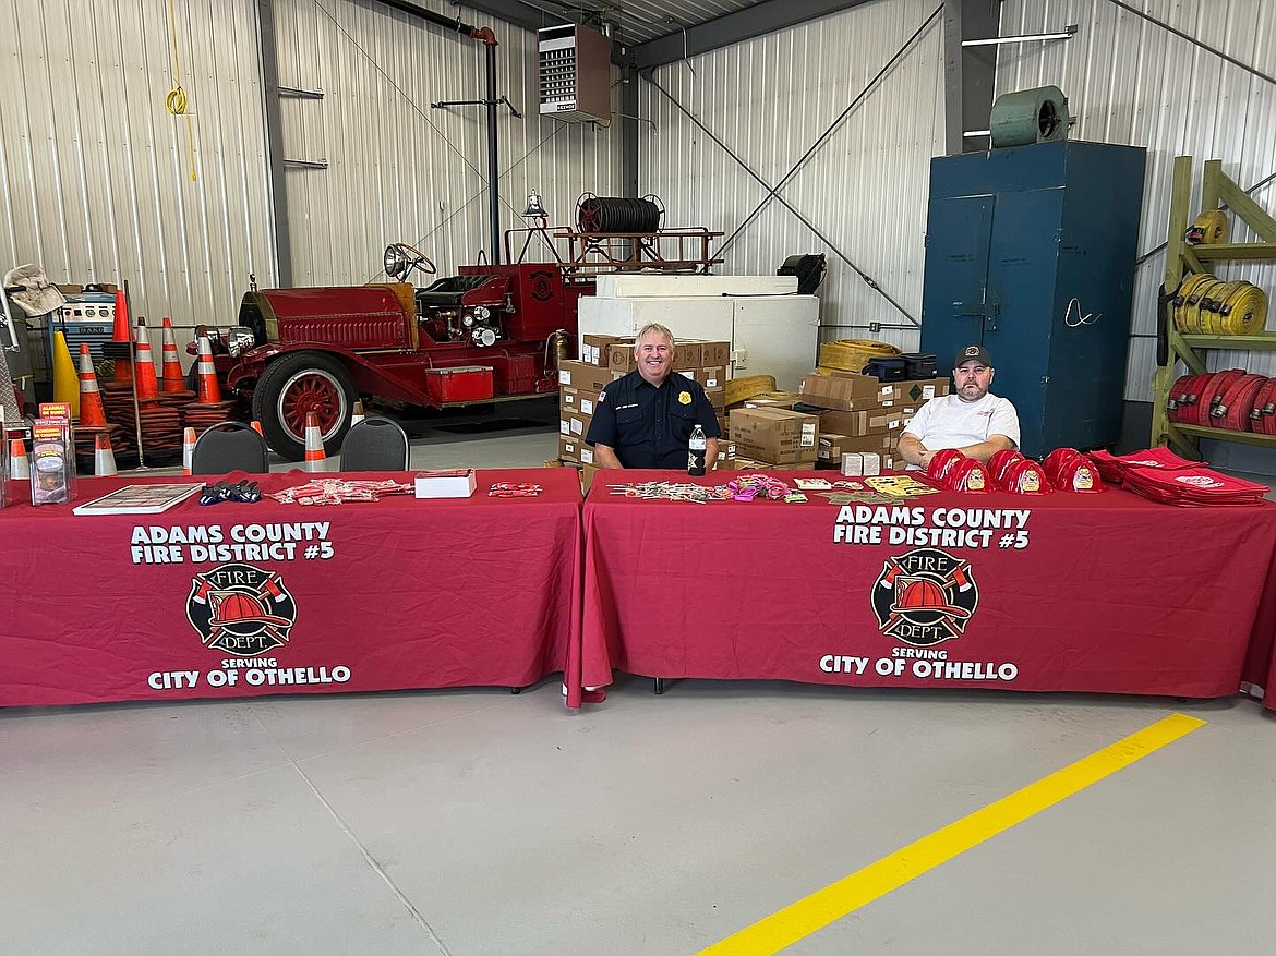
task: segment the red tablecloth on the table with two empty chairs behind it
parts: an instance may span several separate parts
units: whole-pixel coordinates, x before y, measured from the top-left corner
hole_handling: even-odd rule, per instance
[[[544,495],[493,498],[494,481]],[[130,483],[82,479],[74,503]],[[538,468],[480,470],[459,500],[8,507],[0,706],[533,683],[579,622],[579,502],[575,470]]]

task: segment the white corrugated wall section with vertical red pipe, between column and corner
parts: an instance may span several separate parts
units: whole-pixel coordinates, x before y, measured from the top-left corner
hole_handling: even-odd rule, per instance
[[[371,0],[277,0],[276,8],[279,83],[324,92],[322,101],[283,101],[285,156],[329,163],[287,171],[293,282],[374,279],[389,242],[419,246],[441,274],[476,261],[489,245],[486,113],[430,103],[486,96],[482,43]],[[530,189],[553,223],[570,222],[586,190],[614,194],[620,127],[542,120],[536,34],[459,15],[495,31],[498,94],[523,113],[500,110],[504,228],[522,226]]]

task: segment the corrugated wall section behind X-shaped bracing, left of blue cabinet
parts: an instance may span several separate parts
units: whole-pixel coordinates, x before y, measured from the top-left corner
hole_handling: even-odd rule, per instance
[[[773,185],[938,6],[880,0],[664,66],[653,79]],[[942,40],[937,18],[781,190],[919,320],[930,157],[943,153]],[[642,191],[660,195],[671,219],[730,236],[767,190],[651,84],[639,102],[656,124],[641,140]],[[789,255],[827,252],[822,338],[917,345],[911,325],[849,328],[907,319],[775,200],[725,249],[720,270],[730,274],[775,273]]]

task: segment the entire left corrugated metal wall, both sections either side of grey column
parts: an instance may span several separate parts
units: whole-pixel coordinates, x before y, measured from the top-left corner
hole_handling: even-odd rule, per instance
[[[0,269],[128,279],[140,315],[232,322],[250,273],[276,282],[256,4],[176,4],[194,182],[186,121],[163,106],[166,0],[0,11],[23,24],[0,37]],[[296,284],[373,279],[392,241],[445,273],[475,261],[487,245],[485,116],[430,102],[485,94],[482,45],[370,0],[277,0],[276,20],[279,82],[325,93],[283,101],[285,154],[330,164],[287,171]],[[524,116],[501,111],[503,223],[522,224],[528,189],[569,222],[582,191],[619,187],[619,127],[540,119],[536,34],[478,23],[496,32],[499,89]]]

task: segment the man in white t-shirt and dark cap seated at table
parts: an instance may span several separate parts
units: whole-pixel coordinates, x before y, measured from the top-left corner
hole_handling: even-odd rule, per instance
[[[1020,416],[1008,400],[993,395],[993,358],[983,345],[967,345],[953,362],[957,391],[930,399],[900,436],[900,456],[915,468],[930,464],[937,451],[958,449],[966,458],[988,461],[1020,444]]]

